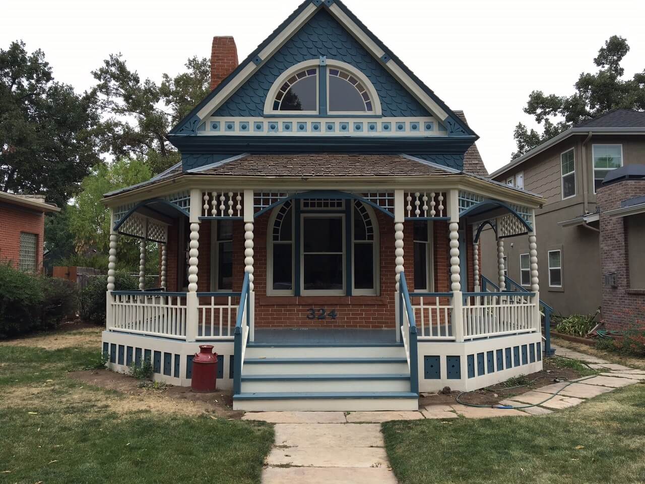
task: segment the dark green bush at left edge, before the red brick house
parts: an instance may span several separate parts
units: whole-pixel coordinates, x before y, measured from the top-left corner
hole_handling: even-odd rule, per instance
[[[0,264],[0,338],[54,328],[75,303],[71,283]]]

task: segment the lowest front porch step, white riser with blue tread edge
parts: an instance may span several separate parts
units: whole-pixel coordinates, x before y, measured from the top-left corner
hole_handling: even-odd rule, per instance
[[[412,392],[260,392],[233,396],[233,410],[247,412],[418,409],[419,396]]]

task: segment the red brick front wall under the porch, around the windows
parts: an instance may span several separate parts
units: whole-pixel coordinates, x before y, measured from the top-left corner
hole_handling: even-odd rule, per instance
[[[253,274],[255,285],[255,327],[324,327],[324,328],[392,328],[395,323],[394,287],[394,223],[391,217],[377,212],[379,224],[379,296],[266,296],[267,271],[267,225],[270,214],[255,219],[253,227]],[[188,240],[188,223],[185,219],[185,240]],[[434,223],[434,282],[435,292],[450,291],[450,256],[448,223]],[[178,257],[177,245],[179,230],[172,227],[168,231],[168,290],[183,290],[177,284]],[[466,238],[472,240],[468,228]],[[404,224],[405,273],[410,290],[414,283],[412,223]],[[185,247],[182,244],[182,247]],[[211,290],[211,236],[210,223],[201,223],[199,229],[199,281],[200,292]],[[468,290],[473,290],[472,244],[468,243]],[[183,262],[182,262],[183,263]],[[233,222],[233,291],[239,292],[244,277],[244,223]],[[466,290],[466,288],[462,288]],[[308,319],[311,308],[325,308],[327,312],[335,309],[337,318],[325,320]]]

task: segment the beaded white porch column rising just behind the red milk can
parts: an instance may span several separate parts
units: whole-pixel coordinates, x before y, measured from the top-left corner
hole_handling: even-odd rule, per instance
[[[186,293],[186,341],[197,338],[199,314],[197,310],[197,264],[199,262],[199,215],[201,214],[201,190],[190,190],[190,242],[188,243],[188,292]]]

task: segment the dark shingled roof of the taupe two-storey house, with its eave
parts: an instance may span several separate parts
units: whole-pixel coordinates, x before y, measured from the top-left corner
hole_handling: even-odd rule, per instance
[[[522,156],[515,158],[510,163],[502,166],[490,174],[491,178],[500,176],[521,165],[524,161],[531,159],[533,156],[540,154],[544,150],[555,146],[564,139],[575,135],[586,134],[645,134],[645,112],[634,111],[629,109],[615,109],[602,116],[595,117],[579,125],[573,126],[561,134],[544,141]]]

